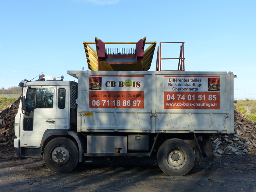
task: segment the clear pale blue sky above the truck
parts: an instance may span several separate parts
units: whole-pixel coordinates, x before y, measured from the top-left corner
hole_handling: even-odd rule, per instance
[[[0,0],[0,87],[41,72],[76,80],[67,70],[88,70],[83,41],[146,36],[185,42],[186,71],[232,71],[235,98],[256,99],[255,10],[255,0]]]

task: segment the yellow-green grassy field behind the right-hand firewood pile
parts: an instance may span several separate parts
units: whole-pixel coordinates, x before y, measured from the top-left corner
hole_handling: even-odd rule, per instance
[[[253,108],[253,114],[246,115],[245,106],[250,106]],[[238,100],[236,104],[236,109],[241,111],[250,120],[256,122],[256,100]]]

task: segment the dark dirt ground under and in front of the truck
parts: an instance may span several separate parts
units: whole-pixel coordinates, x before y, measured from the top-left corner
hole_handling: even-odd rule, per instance
[[[71,173],[55,174],[42,159],[19,159],[7,146],[1,146],[0,152],[0,192],[256,191],[255,154],[222,156],[221,162],[205,158],[187,175],[172,177],[160,170],[156,158],[96,158]]]

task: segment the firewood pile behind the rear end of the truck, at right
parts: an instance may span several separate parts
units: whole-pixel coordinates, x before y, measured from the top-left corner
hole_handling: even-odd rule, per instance
[[[222,154],[256,154],[256,122],[252,122],[236,108],[234,120],[235,134],[211,136],[214,157],[218,158]]]

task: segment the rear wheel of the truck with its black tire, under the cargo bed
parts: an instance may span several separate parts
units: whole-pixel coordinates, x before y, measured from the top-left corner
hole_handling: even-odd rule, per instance
[[[195,162],[191,146],[181,139],[165,141],[157,152],[157,162],[160,169],[170,176],[187,174]]]

